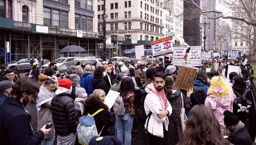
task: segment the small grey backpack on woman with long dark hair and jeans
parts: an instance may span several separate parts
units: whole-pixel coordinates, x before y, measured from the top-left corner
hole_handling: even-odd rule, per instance
[[[114,113],[118,116],[124,116],[125,115],[125,106],[124,106],[124,100],[120,94],[117,96],[116,101],[113,105]]]

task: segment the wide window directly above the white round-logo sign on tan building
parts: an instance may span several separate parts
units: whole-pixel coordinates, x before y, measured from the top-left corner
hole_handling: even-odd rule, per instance
[[[75,29],[92,31],[92,17],[75,14]]]

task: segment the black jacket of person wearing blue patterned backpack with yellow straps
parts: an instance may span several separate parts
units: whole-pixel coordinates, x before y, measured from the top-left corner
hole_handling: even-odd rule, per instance
[[[105,125],[100,136],[110,136],[109,127],[115,123],[115,119],[113,115],[108,111],[107,105],[101,103],[99,100],[87,98],[84,104],[84,115],[88,115],[88,113],[92,115],[101,108],[104,110],[93,116],[95,125],[98,133],[101,132],[103,126]]]

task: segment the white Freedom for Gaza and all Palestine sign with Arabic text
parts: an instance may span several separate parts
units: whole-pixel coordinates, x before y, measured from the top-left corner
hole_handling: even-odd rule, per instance
[[[174,47],[173,65],[201,66],[201,46]]]

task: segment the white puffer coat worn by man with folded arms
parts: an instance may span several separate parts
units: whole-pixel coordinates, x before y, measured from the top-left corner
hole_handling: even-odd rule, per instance
[[[153,84],[149,84],[152,85]],[[148,115],[150,112],[152,112],[152,115],[150,116],[149,122],[148,122],[148,129],[147,131],[157,137],[164,137],[164,128],[163,128],[163,122],[166,119],[167,116],[165,116],[164,118],[160,119],[158,117],[156,117],[157,113],[160,113],[161,111],[159,110],[160,108],[162,108],[161,105],[161,100],[159,99],[159,97],[152,92],[150,89],[148,89],[148,86],[146,86],[145,91],[148,93],[145,101],[144,101],[144,109],[146,112],[146,115]],[[169,114],[171,115],[172,113],[172,106],[168,101],[168,107],[165,109],[168,110]],[[148,118],[147,118],[148,120]],[[147,127],[147,120],[145,123],[145,128]]]

